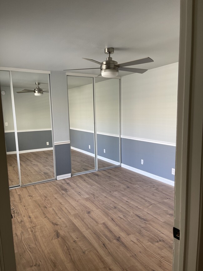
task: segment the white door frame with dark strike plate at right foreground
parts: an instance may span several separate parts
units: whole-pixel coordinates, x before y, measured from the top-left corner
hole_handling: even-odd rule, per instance
[[[203,2],[181,0],[173,270],[199,264],[203,136]],[[200,257],[201,258],[201,257]]]

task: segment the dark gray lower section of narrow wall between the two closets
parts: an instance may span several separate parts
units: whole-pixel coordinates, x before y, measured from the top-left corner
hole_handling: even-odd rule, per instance
[[[55,145],[56,175],[71,173],[70,144]]]

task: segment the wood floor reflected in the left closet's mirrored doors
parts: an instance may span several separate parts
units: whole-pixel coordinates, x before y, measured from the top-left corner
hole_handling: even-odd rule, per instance
[[[52,150],[20,153],[19,157],[22,184],[55,178]],[[16,154],[7,154],[7,168],[9,186],[19,185]]]

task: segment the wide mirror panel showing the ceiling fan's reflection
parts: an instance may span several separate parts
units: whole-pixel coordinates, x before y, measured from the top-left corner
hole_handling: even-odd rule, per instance
[[[23,185],[54,179],[48,74],[11,74],[21,183]]]

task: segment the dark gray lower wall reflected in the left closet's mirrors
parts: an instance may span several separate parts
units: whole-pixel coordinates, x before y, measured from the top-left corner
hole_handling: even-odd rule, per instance
[[[17,138],[19,151],[53,147],[51,130],[18,132]],[[16,151],[14,132],[5,133],[5,141],[7,152]],[[49,145],[47,145],[47,142],[49,142]]]

